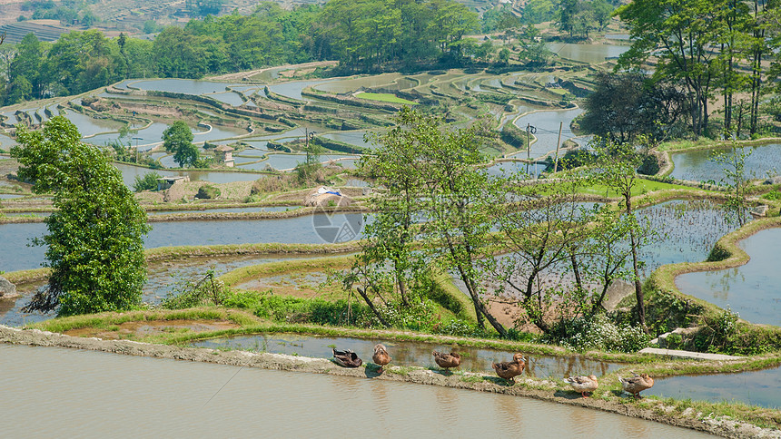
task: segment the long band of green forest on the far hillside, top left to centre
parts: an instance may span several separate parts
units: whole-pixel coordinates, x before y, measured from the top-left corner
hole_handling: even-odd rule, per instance
[[[549,18],[550,6],[547,15],[536,10],[535,19]],[[481,20],[452,0],[331,0],[292,10],[266,2],[252,15],[208,15],[183,28],[165,27],[153,41],[88,30],[44,43],[28,34],[13,50],[4,48],[0,104],[83,93],[125,78],[200,78],[316,60],[338,60],[345,72],[460,65],[478,49],[466,34],[521,21],[509,6]]]

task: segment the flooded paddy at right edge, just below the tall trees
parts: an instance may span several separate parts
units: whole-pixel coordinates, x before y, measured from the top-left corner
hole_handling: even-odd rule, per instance
[[[767,173],[781,172],[781,144],[746,147],[751,154],[746,157],[746,177],[764,179]],[[722,152],[732,150],[699,150],[670,154],[675,169],[670,174],[680,180],[710,181],[718,183],[724,179],[724,165],[714,161]]]

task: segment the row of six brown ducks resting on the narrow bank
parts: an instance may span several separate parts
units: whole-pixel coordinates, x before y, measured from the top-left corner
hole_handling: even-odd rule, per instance
[[[351,349],[339,350],[336,347],[333,350],[333,362],[342,367],[359,367],[363,364],[363,360],[358,357],[358,354]],[[434,362],[437,366],[450,371],[450,369],[459,367],[461,365],[461,356],[457,352],[438,352],[433,351],[431,353],[434,356]],[[382,373],[383,367],[391,364],[391,355],[388,353],[388,348],[385,345],[377,344],[374,346],[374,355],[371,356],[371,361],[380,366],[377,372]],[[499,363],[492,363],[494,371],[499,378],[502,378],[510,385],[515,384],[515,377],[523,374],[523,370],[526,368],[526,358],[522,354],[515,354],[510,361],[502,361]],[[625,392],[640,397],[640,392],[649,389],[654,386],[654,379],[648,376],[648,374],[634,374],[629,378],[622,378],[618,376],[618,380],[621,382],[621,387]],[[572,388],[579,392],[584,398],[588,398],[588,393],[597,390],[599,385],[597,376],[570,376],[564,378],[564,382],[571,385]]]

